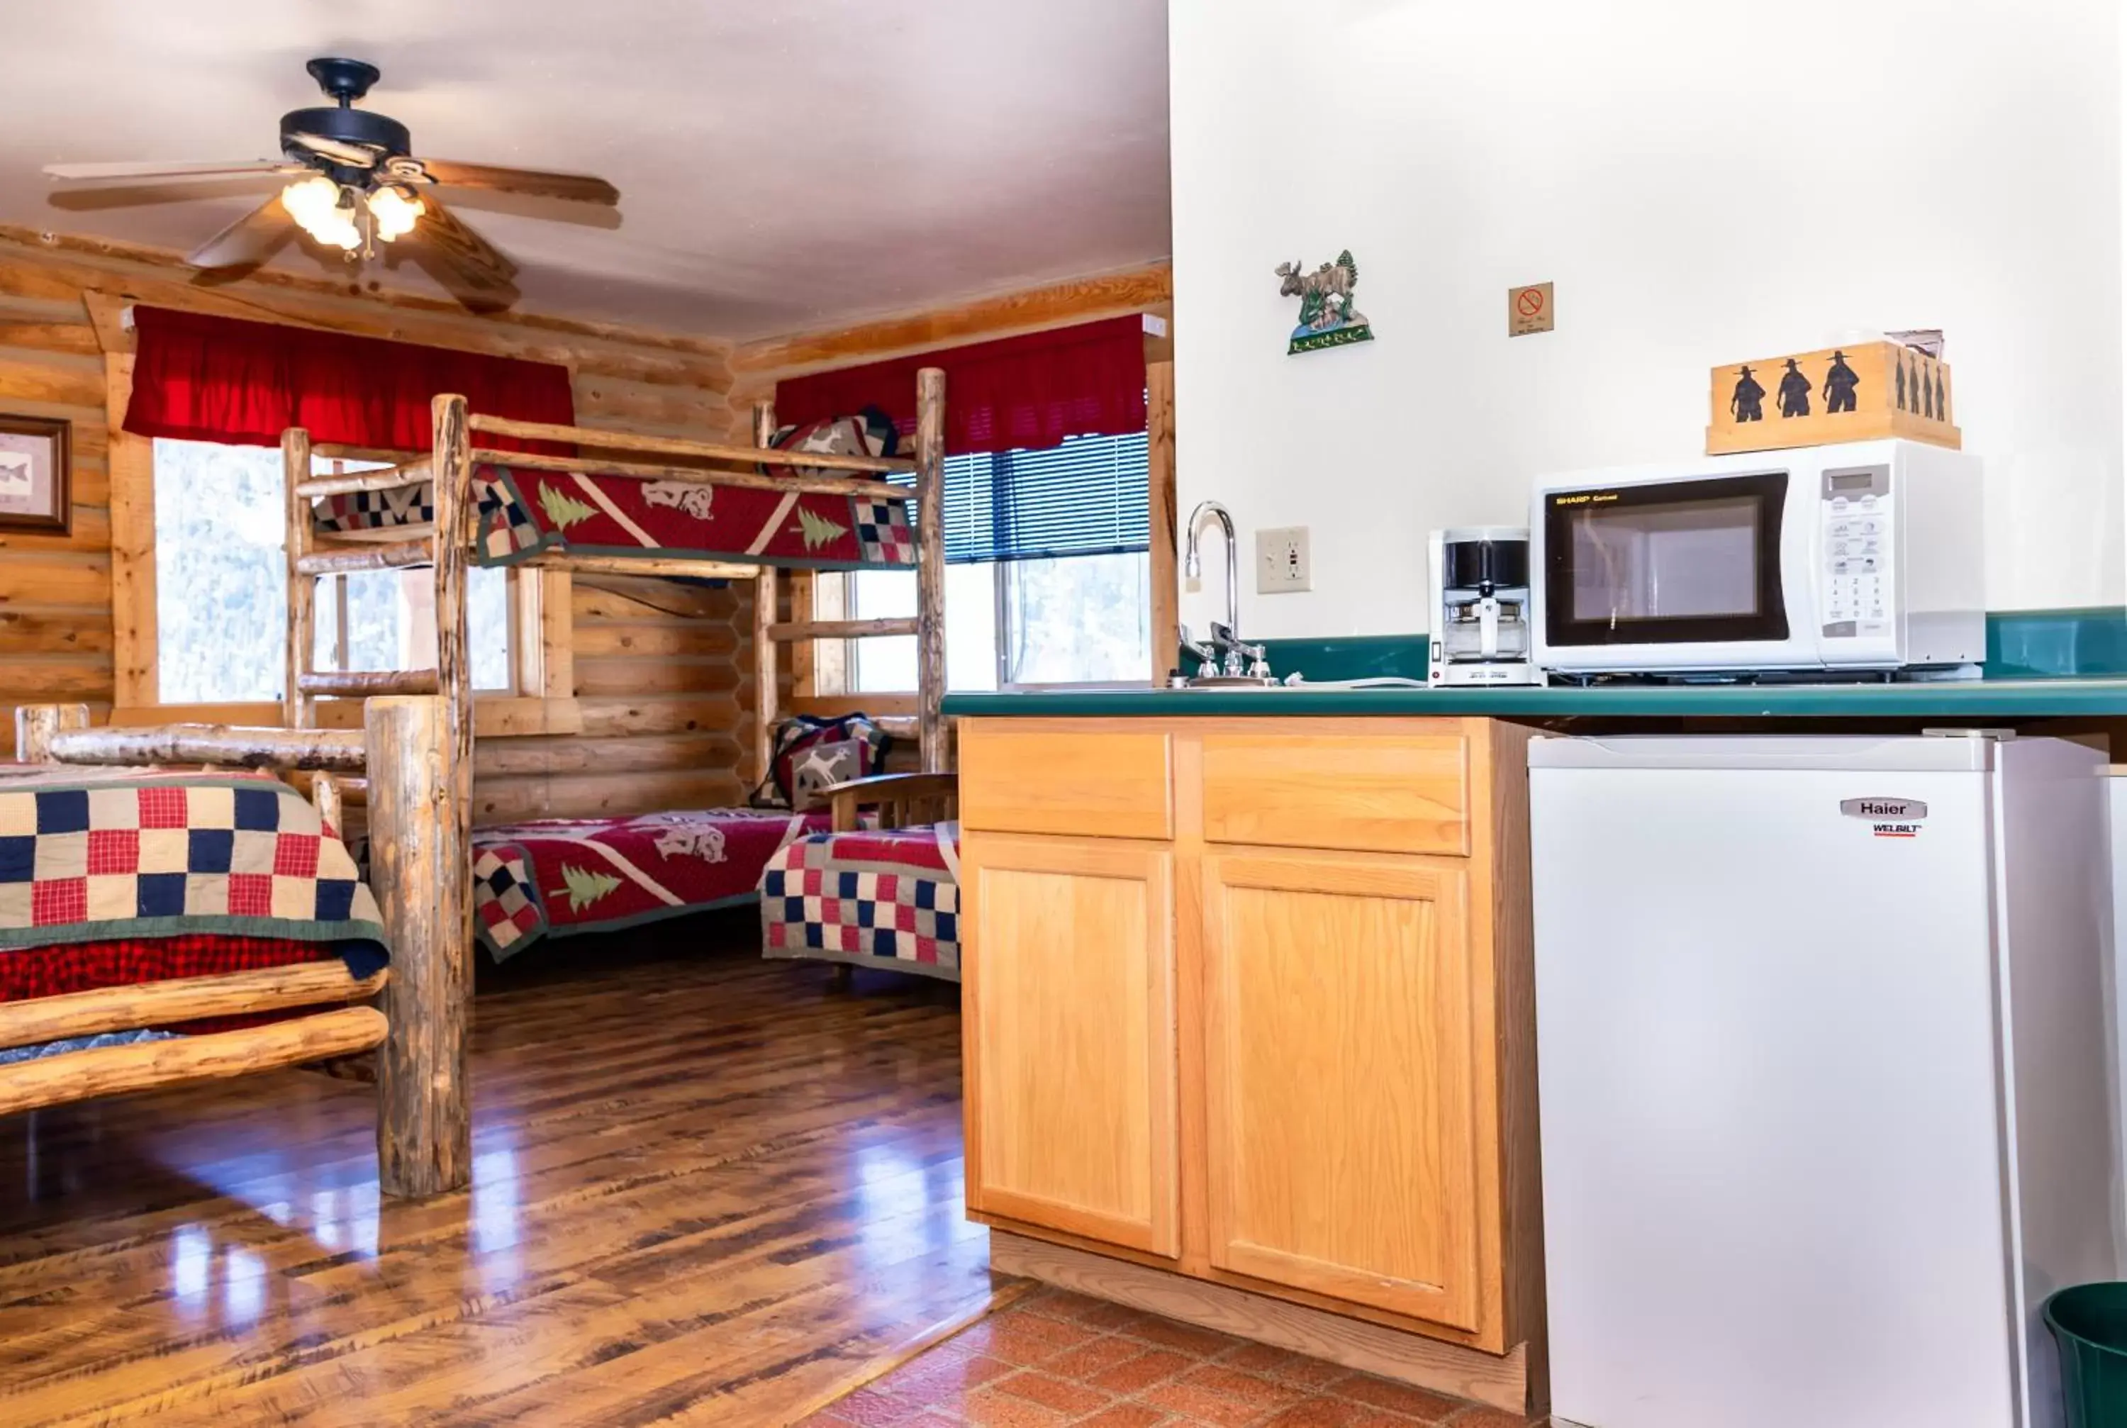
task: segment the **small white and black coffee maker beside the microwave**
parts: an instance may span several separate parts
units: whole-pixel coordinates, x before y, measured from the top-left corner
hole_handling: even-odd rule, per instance
[[[1529,532],[1463,526],[1425,538],[1431,662],[1425,683],[1534,685],[1529,662]]]

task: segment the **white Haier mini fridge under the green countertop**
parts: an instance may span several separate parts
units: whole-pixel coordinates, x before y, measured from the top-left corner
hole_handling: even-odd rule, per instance
[[[2061,1422],[2118,1277],[2104,758],[1529,745],[1553,1413]]]

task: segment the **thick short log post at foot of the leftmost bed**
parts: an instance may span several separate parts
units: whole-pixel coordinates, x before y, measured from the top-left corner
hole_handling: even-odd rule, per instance
[[[391,939],[376,1183],[389,1196],[434,1196],[472,1179],[472,764],[453,760],[449,696],[374,698],[364,721],[370,883]]]

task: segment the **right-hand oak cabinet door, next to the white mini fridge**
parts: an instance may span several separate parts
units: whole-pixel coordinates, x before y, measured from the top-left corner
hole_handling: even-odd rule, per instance
[[[1204,856],[1210,1262],[1478,1328],[1461,862]]]

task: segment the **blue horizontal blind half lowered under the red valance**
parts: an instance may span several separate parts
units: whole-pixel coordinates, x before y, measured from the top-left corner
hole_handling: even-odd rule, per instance
[[[912,475],[893,477],[912,485]],[[1144,432],[944,458],[947,564],[1151,547]]]

